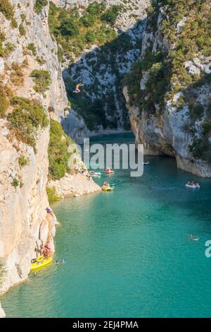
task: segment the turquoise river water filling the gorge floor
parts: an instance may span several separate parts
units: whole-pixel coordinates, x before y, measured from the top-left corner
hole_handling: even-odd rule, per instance
[[[98,141],[130,141],[130,135]],[[174,159],[150,157],[143,177],[104,174],[113,193],[65,198],[55,260],[13,287],[2,305],[8,317],[211,316],[211,181],[177,170]],[[186,189],[189,179],[198,190]],[[200,241],[192,242],[193,233]]]

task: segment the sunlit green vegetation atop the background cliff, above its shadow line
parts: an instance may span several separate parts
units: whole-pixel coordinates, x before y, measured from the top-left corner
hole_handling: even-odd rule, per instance
[[[122,6],[113,5],[106,10],[104,1],[100,4],[94,1],[87,8],[82,8],[80,17],[77,9],[58,8],[50,2],[49,27],[62,48],[60,59],[71,61],[79,56],[82,49],[113,40],[116,33],[112,27],[120,11]]]

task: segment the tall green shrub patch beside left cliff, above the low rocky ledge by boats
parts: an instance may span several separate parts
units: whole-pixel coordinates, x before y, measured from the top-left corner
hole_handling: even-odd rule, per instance
[[[49,141],[49,175],[51,179],[58,180],[68,172],[68,146],[71,139],[65,135],[58,121],[51,119]]]

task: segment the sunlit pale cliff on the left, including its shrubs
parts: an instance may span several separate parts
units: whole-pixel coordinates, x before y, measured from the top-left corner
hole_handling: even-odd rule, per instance
[[[63,119],[68,99],[49,4],[36,3],[0,4],[0,293],[27,278],[43,244],[54,250],[56,217],[46,215],[48,119]]]

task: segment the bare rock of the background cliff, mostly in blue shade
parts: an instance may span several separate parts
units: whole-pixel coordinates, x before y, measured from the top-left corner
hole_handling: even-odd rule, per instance
[[[92,2],[54,1],[57,5],[66,8],[76,6],[79,11],[81,6],[86,7]],[[117,32],[115,40],[107,45],[92,45],[91,49],[83,49],[81,57],[74,59],[73,64],[65,62],[63,77],[70,102],[72,101],[74,105],[78,102],[78,96],[72,95],[71,83],[80,81],[84,83],[83,92],[79,96],[80,99],[84,99],[83,112],[80,113],[79,109],[75,108],[63,119],[65,131],[78,143],[81,143],[82,139],[87,136],[129,130],[121,81],[141,55],[141,37],[146,24],[148,4],[148,0],[107,0],[108,8],[112,5],[124,6],[124,10],[117,17],[113,27],[113,30]],[[79,103],[81,104],[81,100]],[[94,114],[96,108],[98,108],[98,113],[104,112],[105,119],[94,124],[97,115],[93,116],[93,121],[91,121],[87,119],[87,114]],[[75,126],[71,125],[73,121]]]

